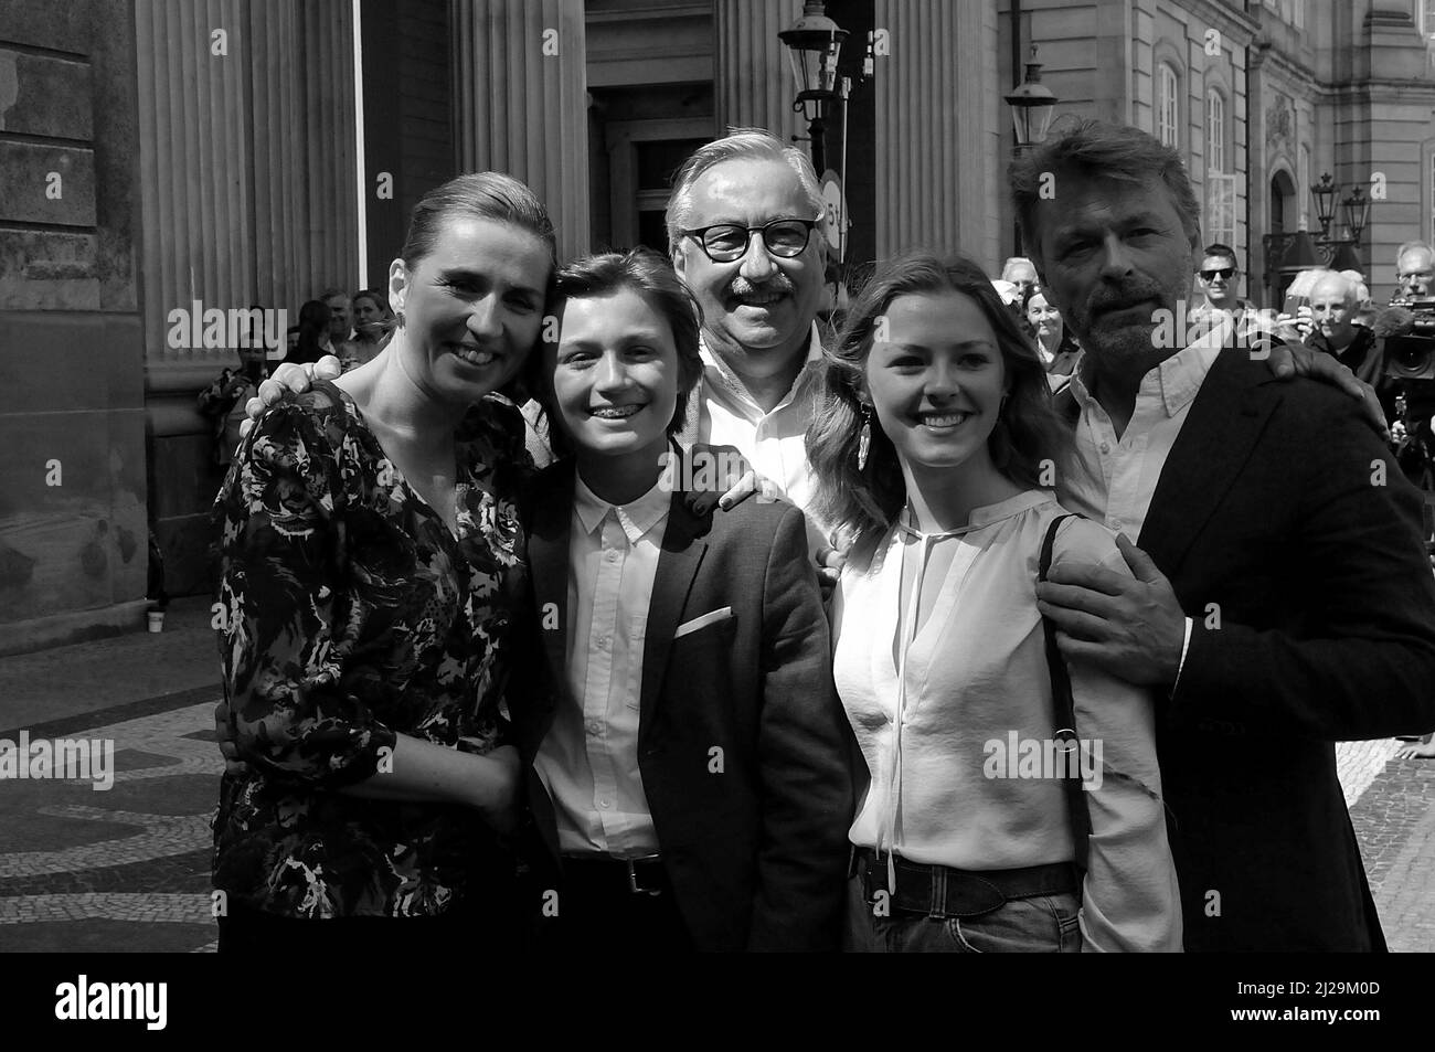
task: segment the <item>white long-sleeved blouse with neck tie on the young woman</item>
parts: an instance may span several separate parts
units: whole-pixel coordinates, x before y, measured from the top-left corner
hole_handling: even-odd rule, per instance
[[[1149,693],[1071,664],[1082,745],[1075,753],[1050,745],[1036,571],[1060,514],[1050,492],[1027,491],[977,508],[956,537],[938,535],[951,540],[894,528],[865,573],[844,571],[832,606],[834,675],[871,772],[851,840],[961,870],[1071,861],[1062,774],[1079,756],[1092,827],[1082,949],[1180,950]],[[911,593],[920,596],[933,543],[959,547],[911,637],[900,633],[911,621],[898,610],[903,560],[918,560]],[[1129,576],[1112,534],[1088,520],[1060,525],[1052,565],[1063,561]]]

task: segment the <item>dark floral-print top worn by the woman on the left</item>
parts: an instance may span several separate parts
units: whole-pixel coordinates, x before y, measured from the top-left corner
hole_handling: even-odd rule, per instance
[[[435,916],[511,863],[479,815],[336,789],[392,762],[396,735],[504,745],[509,620],[527,588],[514,497],[531,462],[489,398],[456,435],[458,534],[331,383],[271,409],[215,501],[231,733],[214,886],[288,917]],[[380,775],[382,776],[382,775]]]

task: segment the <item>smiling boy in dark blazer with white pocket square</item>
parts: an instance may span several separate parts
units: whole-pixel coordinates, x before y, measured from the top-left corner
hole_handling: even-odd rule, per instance
[[[850,731],[802,512],[689,509],[697,317],[664,260],[580,261],[557,310],[532,362],[570,454],[528,502],[545,675],[512,705],[538,946],[837,949]]]

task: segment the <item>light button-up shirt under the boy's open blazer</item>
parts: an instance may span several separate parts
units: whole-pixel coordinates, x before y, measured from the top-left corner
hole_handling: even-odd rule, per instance
[[[637,766],[643,643],[672,495],[631,504],[574,482],[568,540],[568,692],[534,768],[552,797],[563,854],[657,853]]]

